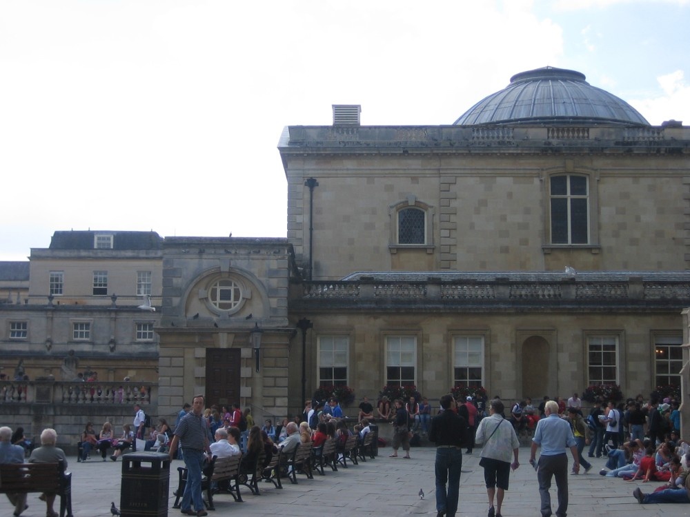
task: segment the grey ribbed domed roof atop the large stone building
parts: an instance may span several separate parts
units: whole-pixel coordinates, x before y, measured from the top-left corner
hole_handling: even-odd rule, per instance
[[[511,83],[479,101],[454,125],[502,123],[615,123],[649,125],[627,102],[563,68],[538,68],[511,77]]]

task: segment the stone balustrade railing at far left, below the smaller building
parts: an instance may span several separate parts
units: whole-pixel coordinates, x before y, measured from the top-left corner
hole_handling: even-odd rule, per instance
[[[155,400],[155,389],[156,383],[0,381],[0,404],[149,404],[152,396]]]

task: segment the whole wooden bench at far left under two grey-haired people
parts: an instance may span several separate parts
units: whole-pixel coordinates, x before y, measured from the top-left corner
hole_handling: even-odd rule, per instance
[[[0,494],[57,494],[60,517],[72,517],[72,474],[65,470],[63,461],[0,465]]]

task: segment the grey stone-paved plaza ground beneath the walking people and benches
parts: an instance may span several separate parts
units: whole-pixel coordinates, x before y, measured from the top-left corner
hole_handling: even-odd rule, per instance
[[[460,479],[460,505],[458,515],[486,516],[486,489],[482,468],[478,465],[478,449],[475,454],[464,455],[463,474]],[[214,498],[216,510],[209,516],[220,515],[262,515],[262,516],[435,516],[434,498],[434,454],[433,447],[413,448],[411,460],[388,458],[390,448],[380,449],[380,456],[366,463],[359,462],[338,472],[326,471],[325,476],[315,474],[313,480],[298,476],[298,484],[291,485],[284,480],[283,489],[276,489],[270,483],[261,483],[261,496],[253,496],[242,487],[244,503],[235,503],[228,494]],[[77,463],[70,457],[72,472],[72,510],[75,517],[108,517],[110,502],[120,505],[121,462],[101,462],[101,458]],[[511,489],[506,494],[504,517],[539,517],[539,494],[534,470],[527,463],[529,448],[520,449],[520,469],[511,474]],[[172,508],[175,498],[172,492],[177,488],[177,467],[181,461],[170,466],[170,505],[168,515],[181,516]],[[640,505],[631,496],[635,486],[642,491],[652,491],[660,483],[625,482],[616,478],[605,478],[598,474],[604,460],[594,459],[589,474],[569,476],[569,516],[591,517],[660,517],[690,516],[689,505]],[[417,495],[420,488],[425,497]],[[555,505],[555,487],[552,490],[552,504]],[[45,503],[38,494],[28,496],[29,508],[22,514],[26,517],[46,515]],[[55,505],[59,509],[58,501]],[[555,506],[554,506],[555,509]],[[6,496],[0,497],[0,516],[11,516],[12,507]]]

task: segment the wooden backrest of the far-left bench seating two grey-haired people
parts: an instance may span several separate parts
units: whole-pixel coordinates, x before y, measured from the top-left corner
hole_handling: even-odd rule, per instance
[[[0,491],[3,493],[57,492],[61,493],[69,480],[65,464],[8,463],[0,465]]]

